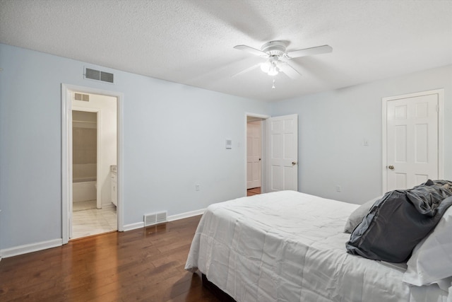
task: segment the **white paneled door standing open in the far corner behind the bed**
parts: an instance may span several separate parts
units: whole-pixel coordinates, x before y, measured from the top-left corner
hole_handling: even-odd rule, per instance
[[[267,192],[298,190],[298,115],[266,120]]]

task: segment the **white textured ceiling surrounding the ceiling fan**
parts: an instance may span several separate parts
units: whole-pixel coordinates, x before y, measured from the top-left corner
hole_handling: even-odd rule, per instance
[[[0,42],[157,79],[282,100],[452,64],[452,1],[0,0]],[[288,51],[302,77],[273,77],[234,45]],[[1,63],[0,63],[1,64]]]

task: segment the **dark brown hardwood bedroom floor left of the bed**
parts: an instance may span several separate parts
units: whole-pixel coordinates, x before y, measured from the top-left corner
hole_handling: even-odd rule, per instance
[[[0,301],[218,301],[184,270],[201,216],[0,261]]]

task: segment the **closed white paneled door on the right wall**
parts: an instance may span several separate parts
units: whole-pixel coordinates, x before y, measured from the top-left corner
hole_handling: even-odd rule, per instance
[[[438,145],[437,93],[386,100],[386,192],[438,179]]]

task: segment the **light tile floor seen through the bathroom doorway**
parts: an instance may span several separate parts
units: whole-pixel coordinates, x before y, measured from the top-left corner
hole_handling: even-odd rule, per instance
[[[73,211],[72,238],[82,238],[117,231],[116,207]]]

